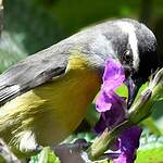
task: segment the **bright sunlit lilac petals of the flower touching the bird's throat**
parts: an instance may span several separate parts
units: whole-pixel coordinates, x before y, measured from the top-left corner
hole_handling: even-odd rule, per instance
[[[125,74],[121,63],[113,59],[108,60],[103,74],[103,85],[101,86],[101,92],[96,101],[97,110],[99,112],[110,110],[112,103],[115,103],[115,100],[118,98],[118,96],[115,95],[114,90],[120,87],[124,80]]]

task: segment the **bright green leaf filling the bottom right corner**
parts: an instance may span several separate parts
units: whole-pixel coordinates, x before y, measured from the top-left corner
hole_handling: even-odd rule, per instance
[[[136,163],[163,163],[163,137],[142,137]]]

